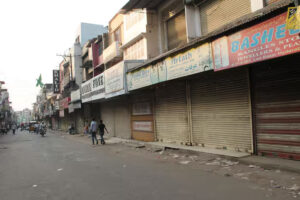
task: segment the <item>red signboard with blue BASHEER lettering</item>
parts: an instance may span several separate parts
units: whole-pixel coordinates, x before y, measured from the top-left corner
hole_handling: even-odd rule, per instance
[[[214,70],[300,52],[300,29],[286,29],[286,13],[212,43]]]

